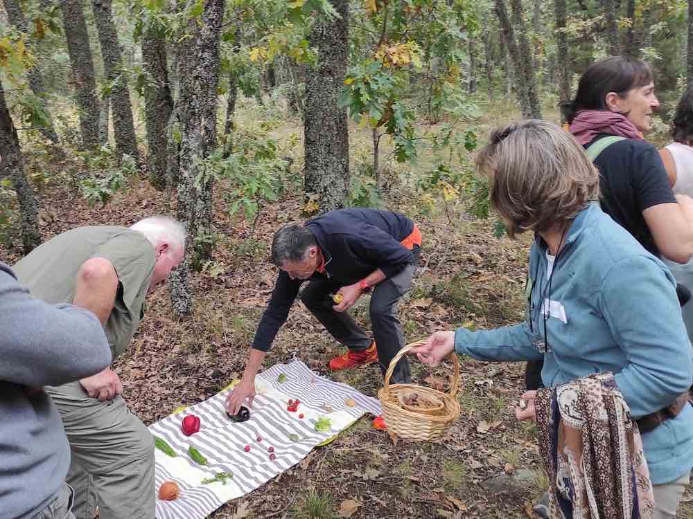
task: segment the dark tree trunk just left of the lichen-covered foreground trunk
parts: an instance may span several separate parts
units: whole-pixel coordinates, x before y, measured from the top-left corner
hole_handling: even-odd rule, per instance
[[[152,82],[144,88],[147,121],[147,173],[157,190],[166,189],[167,131],[173,111],[173,98],[168,84],[166,41],[150,27],[142,38],[142,60]]]

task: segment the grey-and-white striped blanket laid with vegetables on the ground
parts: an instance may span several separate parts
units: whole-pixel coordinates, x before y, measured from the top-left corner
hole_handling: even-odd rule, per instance
[[[225,502],[240,498],[294,466],[315,446],[366,412],[380,415],[377,399],[324,379],[301,361],[277,364],[258,374],[255,388],[257,396],[250,419],[241,424],[227,417],[224,402],[228,390],[223,390],[150,426],[152,434],[164,439],[177,454],[170,457],[155,450],[157,491],[168,480],[175,481],[181,491],[177,500],[157,499],[157,519],[205,518]],[[301,402],[297,412],[287,410],[289,399]],[[356,406],[347,406],[347,399],[356,401]],[[303,418],[299,418],[301,414]],[[191,436],[181,431],[182,419],[187,415],[196,415],[201,421],[200,431]],[[315,430],[316,422],[323,417],[329,419],[329,429]],[[207,458],[207,465],[193,462],[188,455],[191,446]],[[247,452],[246,446],[250,447]],[[270,459],[270,447],[274,459]],[[202,482],[220,473],[232,476]]]

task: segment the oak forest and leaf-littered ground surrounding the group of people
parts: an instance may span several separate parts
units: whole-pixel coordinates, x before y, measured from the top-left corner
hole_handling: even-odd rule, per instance
[[[473,154],[521,117],[561,122],[581,71],[642,57],[669,140],[693,78],[682,0],[0,0],[0,258],[80,225],[155,213],[188,228],[168,290],[116,363],[147,424],[243,370],[274,284],[281,224],[400,210],[424,235],[400,305],[407,340],[523,318],[529,239],[489,209]],[[367,298],[354,309],[368,325]],[[366,394],[376,367],[330,374],[335,345],[296,305],[266,365],[301,358]],[[446,388],[450,366],[413,363]],[[463,415],[441,441],[360,421],[216,518],[526,518],[547,486],[518,424],[523,367],[462,359]],[[687,493],[680,518],[693,518]]]

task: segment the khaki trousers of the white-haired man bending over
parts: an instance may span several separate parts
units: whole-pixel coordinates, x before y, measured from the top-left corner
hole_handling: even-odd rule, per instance
[[[46,388],[70,442],[76,519],[155,519],[154,439],[122,397],[99,401],[79,382]]]

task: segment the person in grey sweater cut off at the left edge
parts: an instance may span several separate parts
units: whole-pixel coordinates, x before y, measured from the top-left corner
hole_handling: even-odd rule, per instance
[[[107,367],[103,327],[90,311],[32,298],[0,262],[0,330],[0,518],[74,519],[70,447],[42,386]]]

